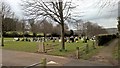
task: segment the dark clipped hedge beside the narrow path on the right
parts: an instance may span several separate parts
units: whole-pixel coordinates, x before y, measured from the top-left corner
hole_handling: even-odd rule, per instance
[[[104,45],[115,38],[117,38],[117,36],[115,34],[113,34],[113,35],[99,35],[99,36],[97,36],[97,44],[99,46]]]

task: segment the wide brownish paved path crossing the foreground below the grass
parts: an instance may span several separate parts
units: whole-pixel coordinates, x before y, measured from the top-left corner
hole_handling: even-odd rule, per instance
[[[54,61],[57,63],[49,64],[50,66],[109,66],[109,64],[91,62],[86,60],[77,60],[28,52],[2,50],[3,66],[28,66],[40,62],[42,58],[46,58],[47,62]]]

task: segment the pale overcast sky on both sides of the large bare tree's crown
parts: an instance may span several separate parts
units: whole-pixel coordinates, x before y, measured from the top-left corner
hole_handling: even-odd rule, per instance
[[[19,5],[20,0],[5,1],[11,6],[17,17],[23,17]],[[75,11],[81,14],[81,19],[98,23],[105,28],[117,28],[116,18],[118,17],[118,1],[120,0],[109,0],[109,6],[103,9],[100,5],[104,4],[106,0],[99,1],[101,0],[73,0],[73,3],[79,5]]]

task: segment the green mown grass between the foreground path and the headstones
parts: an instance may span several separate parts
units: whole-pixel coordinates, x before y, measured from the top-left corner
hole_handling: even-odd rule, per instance
[[[42,44],[41,42],[26,42],[26,41],[13,41],[13,38],[5,38],[4,44],[5,46],[3,49],[8,50],[16,50],[16,51],[25,51],[25,52],[32,52],[35,53],[38,50],[38,45]],[[10,41],[11,40],[11,41]],[[54,45],[54,46],[53,46]],[[57,56],[69,56],[69,55],[75,55],[76,53],[76,47],[79,47],[80,50],[85,49],[85,43],[83,43],[81,40],[79,40],[78,43],[65,43],[65,47],[67,51],[60,52],[61,49],[61,43],[58,41],[52,42],[48,41],[45,42],[45,47],[49,48],[53,46],[53,49],[47,52],[47,54],[50,55],[57,55]],[[97,47],[97,49],[93,49],[93,41],[88,41],[89,45],[89,53],[88,54],[82,54],[81,58],[83,59],[89,59],[92,55],[94,55],[97,50],[101,47]]]

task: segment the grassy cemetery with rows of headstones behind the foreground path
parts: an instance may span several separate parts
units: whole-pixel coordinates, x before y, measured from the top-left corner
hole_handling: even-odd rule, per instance
[[[73,38],[67,39],[65,41],[66,51],[61,52],[61,41],[58,37],[46,38],[44,42],[45,52],[43,52],[43,38],[28,38],[26,37],[25,40],[23,38],[5,38],[5,46],[3,49],[9,50],[17,50],[17,51],[25,51],[25,52],[32,52],[32,53],[46,53],[51,55],[57,56],[68,56],[76,58],[76,48],[79,47],[81,51],[81,57],[87,55],[86,54],[86,45],[89,47],[89,53],[92,54],[96,48],[100,48],[95,46],[94,40],[87,40],[85,42],[83,38]],[[68,37],[69,38],[69,37]],[[77,39],[76,39],[77,38]],[[9,40],[9,41],[7,41]],[[88,54],[89,54],[88,53]],[[70,56],[69,56],[70,55]],[[88,56],[89,57],[89,56]]]

